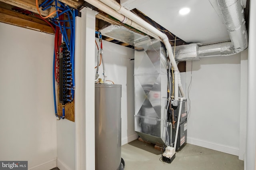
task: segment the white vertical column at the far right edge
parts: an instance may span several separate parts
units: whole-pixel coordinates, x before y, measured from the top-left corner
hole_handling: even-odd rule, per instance
[[[250,1],[249,43],[248,43],[248,103],[246,133],[246,170],[254,170],[256,152],[256,1]]]

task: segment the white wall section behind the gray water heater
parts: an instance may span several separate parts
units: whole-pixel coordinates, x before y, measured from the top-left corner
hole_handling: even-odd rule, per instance
[[[96,39],[98,43],[98,39]],[[138,138],[134,131],[134,49],[103,40],[103,57],[107,80],[122,85],[121,117],[122,145]],[[95,46],[95,55],[97,55]],[[97,58],[95,57],[95,65]],[[102,65],[98,73],[103,79]],[[96,69],[95,69],[96,70]],[[108,82],[111,83],[111,82]]]

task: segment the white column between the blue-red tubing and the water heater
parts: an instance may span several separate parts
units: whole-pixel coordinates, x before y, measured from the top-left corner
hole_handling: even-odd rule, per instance
[[[82,9],[76,17],[75,124],[76,170],[95,169],[94,55],[95,15]]]

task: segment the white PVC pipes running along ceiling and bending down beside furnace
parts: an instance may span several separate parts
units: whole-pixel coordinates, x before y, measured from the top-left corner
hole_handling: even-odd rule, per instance
[[[101,2],[100,2],[101,1]],[[174,59],[173,53],[172,53],[172,47],[169,43],[168,37],[166,36],[166,34],[160,32],[158,29],[154,28],[152,25],[148,24],[146,21],[142,20],[140,17],[136,16],[134,13],[130,12],[129,10],[127,10],[126,8],[122,7],[118,2],[116,2],[115,0],[86,0],[86,2],[92,4],[93,6],[99,8],[100,10],[106,12],[107,14],[113,16],[114,18],[120,20],[123,23],[129,23],[130,26],[132,26],[133,28],[136,28],[142,32],[144,32],[145,34],[152,33],[154,34],[152,37],[157,38],[158,40],[160,39],[165,47],[166,50],[168,52],[169,55],[169,59],[170,62],[172,63],[172,67],[174,69],[174,79],[176,79],[177,81],[174,81],[174,99],[178,100],[178,89],[180,89],[180,93],[182,95],[182,97],[185,97],[182,85],[181,85],[181,81],[178,81],[179,79],[179,75],[180,72],[178,70],[178,66],[177,63]],[[103,4],[102,4],[103,2]],[[114,12],[114,10],[116,12]],[[116,14],[117,13],[117,14]],[[122,14],[120,16],[120,14]],[[131,20],[131,22],[127,22],[127,20],[129,21],[129,19]],[[176,77],[176,78],[175,78]],[[180,83],[180,85],[178,85],[178,83]]]

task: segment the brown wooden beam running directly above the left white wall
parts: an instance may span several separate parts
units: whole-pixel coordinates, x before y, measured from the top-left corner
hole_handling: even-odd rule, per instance
[[[0,13],[0,22],[15,25],[15,26],[20,26],[23,28],[29,28],[31,30],[37,30],[37,31],[54,34],[54,30],[50,26],[46,26],[46,25],[32,22],[26,19],[18,18],[16,16],[11,16],[8,14]]]

